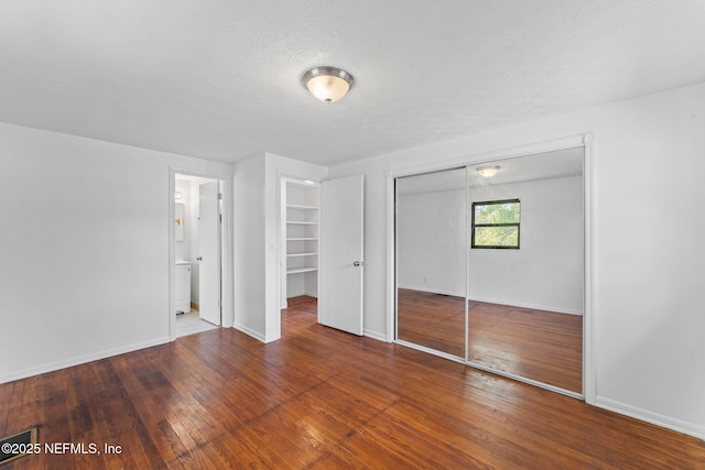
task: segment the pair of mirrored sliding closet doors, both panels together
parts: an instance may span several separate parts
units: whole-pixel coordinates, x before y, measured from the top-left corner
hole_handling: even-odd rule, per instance
[[[395,340],[583,396],[584,154],[395,178]]]

